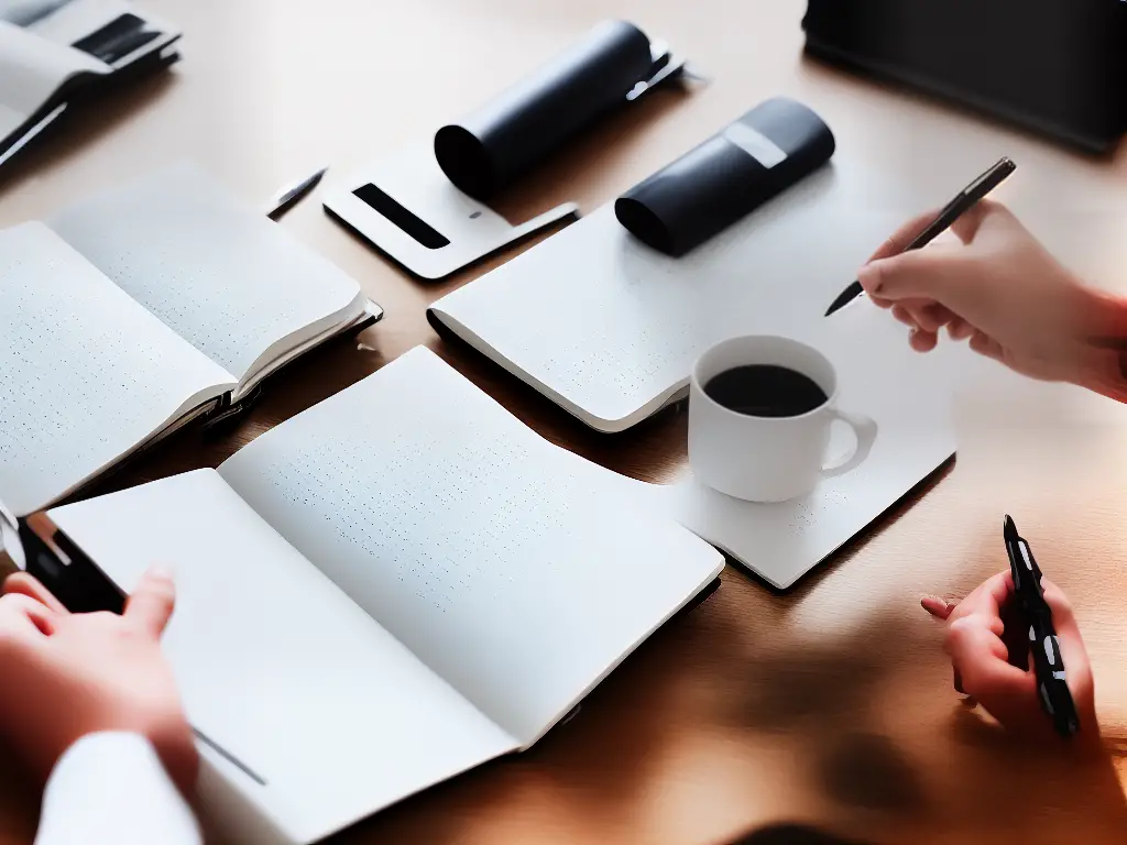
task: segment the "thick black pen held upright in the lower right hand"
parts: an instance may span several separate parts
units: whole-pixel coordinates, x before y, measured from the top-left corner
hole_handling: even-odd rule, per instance
[[[1072,737],[1080,730],[1080,717],[1065,679],[1061,642],[1053,628],[1053,611],[1045,601],[1045,590],[1041,588],[1041,570],[1029,543],[1018,534],[1018,526],[1009,515],[1005,517],[1002,536],[1005,553],[1010,558],[1010,572],[1013,576],[1022,628],[1028,630],[1041,709],[1053,720],[1057,733]]]

